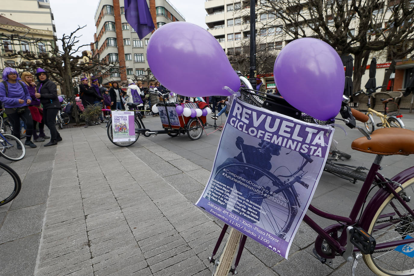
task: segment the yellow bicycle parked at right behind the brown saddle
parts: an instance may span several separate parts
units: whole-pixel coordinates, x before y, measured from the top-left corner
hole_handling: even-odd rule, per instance
[[[374,91],[380,89],[383,86],[375,87]],[[372,89],[371,89],[372,91]],[[371,108],[371,94],[370,92],[364,92],[362,90],[356,92],[354,95],[357,96],[358,94],[363,93],[368,96],[368,110],[366,111],[366,115],[368,116],[369,120],[364,123],[366,131],[371,134],[375,130],[375,126],[377,127],[400,127],[405,128],[404,122],[400,118],[402,118],[402,114],[398,113],[387,113],[387,104],[392,102],[392,98],[388,99],[381,99],[384,104],[384,113],[380,113],[375,111]],[[375,124],[373,114],[381,119],[380,123]]]

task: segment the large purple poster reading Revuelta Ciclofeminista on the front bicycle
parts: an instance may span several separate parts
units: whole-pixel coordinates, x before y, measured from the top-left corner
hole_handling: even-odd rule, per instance
[[[333,132],[235,99],[195,205],[287,259]]]

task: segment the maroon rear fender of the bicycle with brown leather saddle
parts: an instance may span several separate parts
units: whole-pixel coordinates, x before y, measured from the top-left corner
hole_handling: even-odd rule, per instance
[[[398,182],[398,183],[403,183],[407,180],[410,180],[411,178],[414,178],[414,166],[398,173],[397,175],[392,177],[391,180]],[[391,184],[391,185],[394,188],[398,187],[395,184]],[[361,219],[359,220],[359,225],[364,230],[368,230],[369,225],[371,224],[372,218],[373,216],[375,216],[375,214],[373,212],[370,212],[370,210],[377,210],[390,194],[391,193],[388,192],[386,189],[380,189],[378,192],[374,194],[372,199],[368,202],[365,210],[363,211]]]

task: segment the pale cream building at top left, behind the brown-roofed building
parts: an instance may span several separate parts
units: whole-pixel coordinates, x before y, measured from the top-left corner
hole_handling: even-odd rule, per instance
[[[52,31],[56,37],[55,21],[49,0],[1,1],[0,13],[30,29]]]

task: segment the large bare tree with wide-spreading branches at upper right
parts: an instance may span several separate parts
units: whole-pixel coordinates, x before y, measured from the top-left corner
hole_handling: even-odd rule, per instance
[[[409,41],[414,50],[414,4],[409,0],[273,0],[259,11],[274,14],[267,27],[276,29],[278,38],[291,41],[315,37],[330,44],[339,55],[354,55],[354,90],[371,51],[395,47]]]

